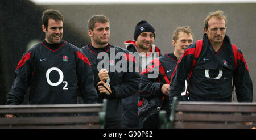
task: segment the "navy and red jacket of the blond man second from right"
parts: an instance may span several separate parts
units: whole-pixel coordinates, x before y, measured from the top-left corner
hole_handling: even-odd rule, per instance
[[[159,58],[155,58],[142,71],[138,100],[138,113],[140,117],[150,117],[160,110],[170,112],[169,98],[161,92],[161,87],[163,84],[170,84],[171,75],[175,70],[176,64],[177,57],[173,53],[164,54]],[[154,73],[157,73],[158,76],[151,78],[150,74]],[[185,91],[185,87],[183,91]],[[183,96],[183,100],[185,98]]]

